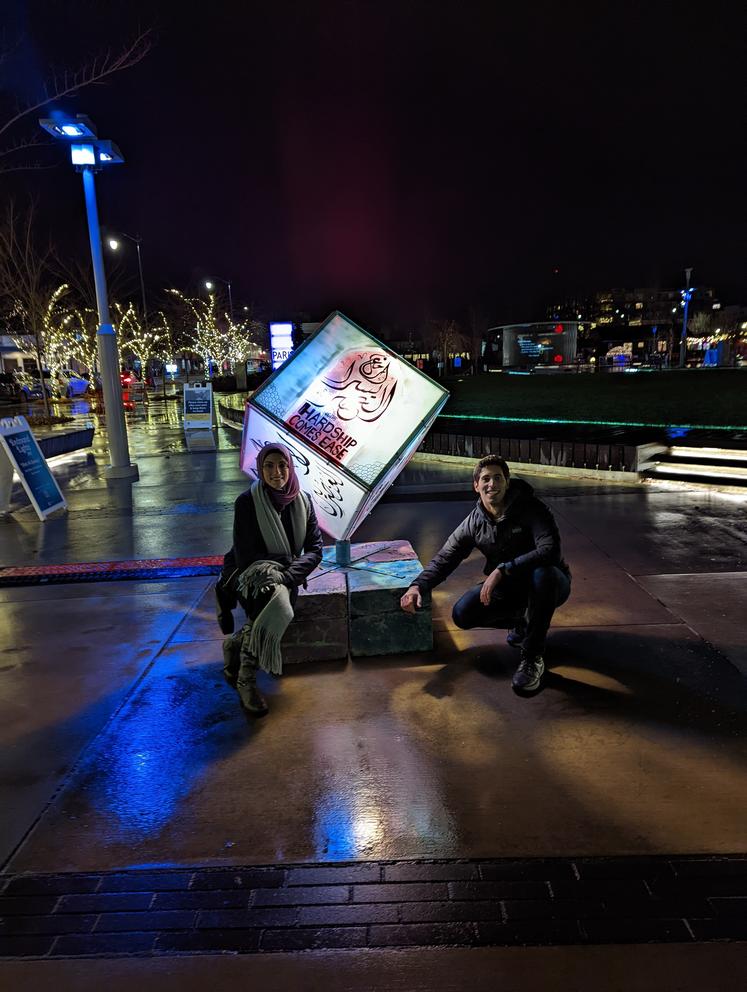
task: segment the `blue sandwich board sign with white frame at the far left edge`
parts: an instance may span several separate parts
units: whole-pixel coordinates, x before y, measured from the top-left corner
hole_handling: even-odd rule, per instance
[[[40,520],[67,507],[25,417],[0,420],[0,511],[3,513],[10,507],[14,471]]]

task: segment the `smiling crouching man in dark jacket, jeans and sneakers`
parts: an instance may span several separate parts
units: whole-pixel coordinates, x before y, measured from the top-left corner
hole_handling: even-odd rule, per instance
[[[521,648],[512,680],[519,694],[539,689],[545,671],[545,638],[553,613],[571,591],[571,573],[560,553],[560,535],[549,507],[529,483],[510,479],[500,455],[475,466],[479,500],[400,600],[414,613],[422,594],[443,582],[477,548],[485,555],[484,582],[454,605],[457,627],[512,627],[507,641]]]

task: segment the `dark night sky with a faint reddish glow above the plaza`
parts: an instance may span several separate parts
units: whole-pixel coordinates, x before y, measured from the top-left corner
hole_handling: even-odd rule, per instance
[[[217,275],[265,317],[375,330],[527,320],[692,265],[747,303],[739,5],[6,5],[21,98],[152,26],[142,63],[63,105],[127,159],[101,219],[142,236],[151,292]],[[80,180],[45,154],[0,181],[85,250]]]

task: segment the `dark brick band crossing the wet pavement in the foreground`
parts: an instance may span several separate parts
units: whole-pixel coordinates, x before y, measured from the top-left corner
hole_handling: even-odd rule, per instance
[[[8,875],[4,957],[747,939],[747,855]]]

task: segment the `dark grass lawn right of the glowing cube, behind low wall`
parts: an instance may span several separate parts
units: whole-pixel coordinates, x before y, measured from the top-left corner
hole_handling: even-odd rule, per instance
[[[747,369],[578,375],[492,372],[442,383],[451,394],[443,416],[747,425]]]

